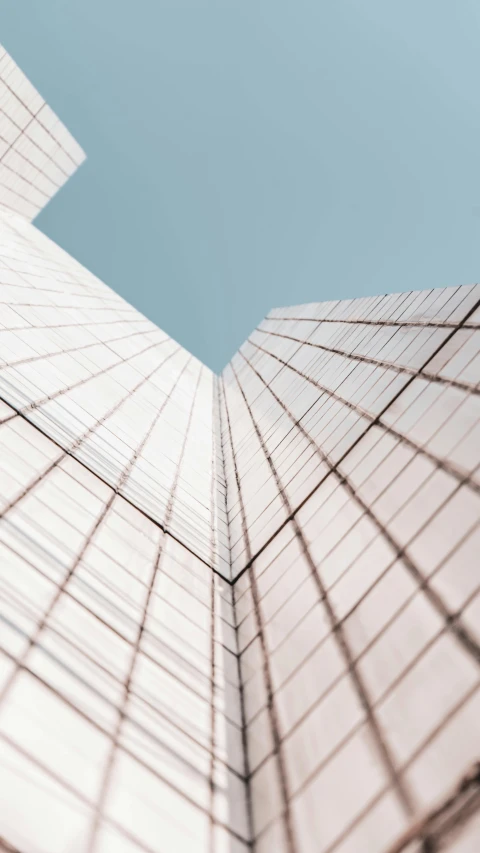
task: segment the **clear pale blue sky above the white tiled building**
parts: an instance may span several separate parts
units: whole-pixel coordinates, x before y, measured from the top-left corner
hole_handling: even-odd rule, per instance
[[[274,306],[480,279],[478,0],[2,0],[88,160],[37,225],[214,370]]]

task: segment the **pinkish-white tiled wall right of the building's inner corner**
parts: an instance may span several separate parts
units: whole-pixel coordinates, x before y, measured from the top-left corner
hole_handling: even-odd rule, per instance
[[[480,755],[479,299],[278,309],[223,372],[258,853],[383,853]]]

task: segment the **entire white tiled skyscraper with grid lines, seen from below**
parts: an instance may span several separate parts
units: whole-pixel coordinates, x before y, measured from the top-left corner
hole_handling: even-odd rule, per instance
[[[220,377],[35,229],[0,57],[0,849],[478,853],[480,288],[272,311]]]

